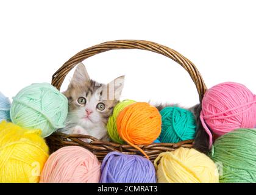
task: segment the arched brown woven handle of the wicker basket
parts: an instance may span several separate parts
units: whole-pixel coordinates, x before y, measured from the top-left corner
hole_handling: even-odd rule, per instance
[[[78,63],[88,59],[96,54],[100,54],[105,51],[109,51],[112,49],[143,49],[152,52],[156,52],[158,54],[165,55],[175,62],[179,63],[187,72],[190,74],[191,79],[197,88],[197,93],[199,94],[200,102],[207,90],[207,87],[202,79],[201,74],[197,70],[196,66],[183,55],[179,54],[179,52],[174,51],[166,46],[163,46],[158,43],[154,43],[151,41],[143,41],[143,40],[118,40],[118,41],[108,41],[105,43],[97,44],[92,46],[91,48],[84,49],[71,57],[60,69],[57,70],[56,73],[52,76],[52,85],[60,90],[60,87],[66,77],[66,75],[74,68]]]

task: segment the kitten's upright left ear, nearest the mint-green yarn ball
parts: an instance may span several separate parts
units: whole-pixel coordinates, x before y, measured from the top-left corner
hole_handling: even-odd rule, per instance
[[[77,65],[71,83],[85,83],[90,81],[85,65],[81,62]]]

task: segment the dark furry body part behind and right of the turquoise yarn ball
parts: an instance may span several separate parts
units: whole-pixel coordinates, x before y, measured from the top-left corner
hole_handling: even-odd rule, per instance
[[[180,107],[179,104],[160,104],[156,107],[159,111],[161,111],[165,107],[174,107],[174,106]],[[200,120],[200,113],[202,110],[202,106],[201,104],[197,104],[191,108],[187,108],[187,110],[190,110],[196,119],[196,137],[194,139],[193,147],[197,151],[207,154],[210,151],[208,148],[209,137],[208,137],[208,134],[205,132],[204,127],[202,126],[202,123]]]

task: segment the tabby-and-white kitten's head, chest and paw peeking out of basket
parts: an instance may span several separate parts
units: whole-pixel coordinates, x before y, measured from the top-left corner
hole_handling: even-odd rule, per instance
[[[63,93],[68,98],[69,111],[66,127],[60,131],[107,140],[107,121],[119,102],[123,86],[124,76],[116,78],[107,85],[91,80],[85,66],[79,63],[68,89]]]

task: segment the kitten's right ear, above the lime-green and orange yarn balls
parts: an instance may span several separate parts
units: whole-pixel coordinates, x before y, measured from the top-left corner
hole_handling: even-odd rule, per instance
[[[112,80],[112,82],[108,83],[109,99],[116,99],[116,100],[120,99],[121,93],[124,88],[124,77],[125,76],[118,77],[115,80]]]

